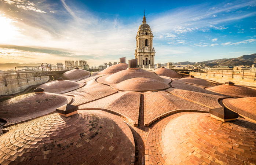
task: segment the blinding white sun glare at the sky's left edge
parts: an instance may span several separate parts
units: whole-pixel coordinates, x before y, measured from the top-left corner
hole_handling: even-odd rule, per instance
[[[17,36],[18,27],[14,26],[15,21],[0,14],[0,43],[7,43]]]

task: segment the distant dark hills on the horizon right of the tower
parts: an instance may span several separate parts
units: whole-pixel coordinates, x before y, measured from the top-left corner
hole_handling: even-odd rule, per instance
[[[251,67],[253,64],[256,64],[256,54],[242,55],[238,58],[214,59],[214,60],[208,60],[208,61],[202,61],[202,62],[196,62],[196,63],[189,62],[189,61],[173,63],[173,65],[204,65],[209,67],[214,67],[214,66],[250,66]]]

